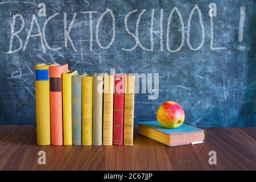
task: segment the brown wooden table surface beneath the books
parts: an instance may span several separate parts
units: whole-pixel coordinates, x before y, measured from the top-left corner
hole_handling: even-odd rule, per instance
[[[166,147],[137,129],[134,146],[37,146],[35,126],[0,126],[0,170],[256,170],[256,128],[205,130],[206,142],[193,146]]]

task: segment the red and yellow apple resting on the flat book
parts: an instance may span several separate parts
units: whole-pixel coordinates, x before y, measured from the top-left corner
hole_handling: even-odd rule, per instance
[[[185,119],[182,107],[173,101],[164,102],[156,113],[158,122],[167,129],[180,127]]]

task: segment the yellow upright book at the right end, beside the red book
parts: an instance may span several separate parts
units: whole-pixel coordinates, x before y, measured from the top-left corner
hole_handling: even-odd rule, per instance
[[[123,144],[133,145],[133,125],[134,125],[134,74],[125,77],[125,116],[123,129]]]

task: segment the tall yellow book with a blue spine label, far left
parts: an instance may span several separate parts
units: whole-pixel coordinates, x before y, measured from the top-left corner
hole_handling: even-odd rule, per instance
[[[40,146],[51,144],[49,68],[35,68],[36,134]]]

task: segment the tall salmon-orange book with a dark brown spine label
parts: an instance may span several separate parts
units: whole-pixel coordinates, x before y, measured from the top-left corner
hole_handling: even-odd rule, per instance
[[[62,78],[63,72],[68,71],[68,64],[54,64],[49,67],[50,111],[51,111],[51,144],[63,145],[62,117]]]

